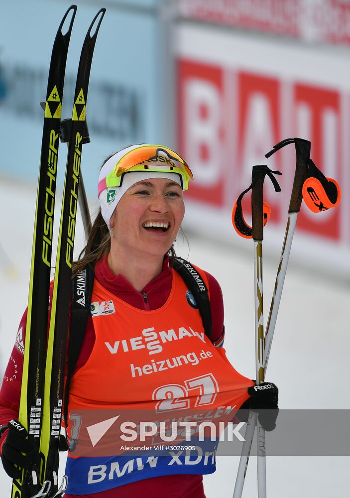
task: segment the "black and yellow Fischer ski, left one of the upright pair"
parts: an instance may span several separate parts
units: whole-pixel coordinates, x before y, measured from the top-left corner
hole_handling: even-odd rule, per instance
[[[27,430],[28,438],[32,439],[38,450],[42,430],[58,137],[68,45],[76,11],[76,5],[71,5],[68,8],[61,20],[53,43],[36,198],[23,378],[18,418]],[[68,29],[63,34],[62,29],[66,23],[68,23]],[[24,498],[37,491],[43,492],[39,484],[39,467],[40,462],[33,462],[30,471],[22,472],[19,479],[12,481],[12,498]],[[45,483],[44,491],[48,490],[48,487],[49,484]]]

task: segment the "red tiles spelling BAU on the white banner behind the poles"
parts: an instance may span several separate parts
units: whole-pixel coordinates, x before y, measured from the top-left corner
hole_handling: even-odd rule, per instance
[[[270,182],[264,189],[270,223],[284,225],[295,152],[290,147],[269,160],[264,154],[288,138],[281,131],[286,122],[294,130],[291,136],[311,140],[311,157],[321,171],[342,184],[340,90],[186,59],[178,61],[178,77],[179,148],[194,170],[194,186],[187,194],[191,199],[227,211],[249,185],[251,167],[268,164],[283,172],[278,178],[282,194],[275,194]],[[286,85],[291,101],[282,98]],[[341,241],[341,216],[339,207],[313,214],[303,205],[298,230]]]

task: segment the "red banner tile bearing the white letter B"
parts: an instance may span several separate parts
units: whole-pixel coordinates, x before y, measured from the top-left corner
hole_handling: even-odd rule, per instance
[[[223,205],[223,74],[220,68],[179,61],[179,145],[195,177],[188,196]]]

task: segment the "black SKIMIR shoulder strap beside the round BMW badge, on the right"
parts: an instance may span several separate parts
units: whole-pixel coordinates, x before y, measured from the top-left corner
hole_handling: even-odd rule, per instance
[[[173,266],[192,292],[202,317],[204,332],[211,339],[212,309],[210,307],[208,289],[202,276],[191,263],[181,257],[175,258]]]

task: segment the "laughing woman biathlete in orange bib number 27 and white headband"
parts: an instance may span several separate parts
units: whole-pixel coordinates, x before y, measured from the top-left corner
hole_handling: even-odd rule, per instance
[[[66,498],[205,497],[202,476],[215,471],[213,446],[206,452],[197,437],[186,442],[196,446],[190,453],[123,454],[113,432],[120,413],[129,418],[131,413],[157,413],[174,420],[186,409],[187,421],[203,421],[225,410],[233,419],[239,407],[277,410],[276,386],[254,390],[254,382],[226,358],[224,305],[216,279],[195,267],[210,298],[209,339],[188,286],[173,268],[173,243],[185,212],[183,192],[191,179],[186,162],[160,145],[126,147],[100,171],[101,210],[73,267],[77,274],[91,265],[95,280],[69,389]],[[1,425],[18,418],[25,323],[26,313],[0,391]],[[85,423],[86,413],[93,418]],[[103,420],[112,431],[105,443],[89,432],[94,421]],[[260,422],[267,430],[275,425],[270,419],[264,424],[263,416]],[[83,442],[88,433],[90,439]],[[30,441],[10,423],[0,451],[12,478],[35,458]]]

